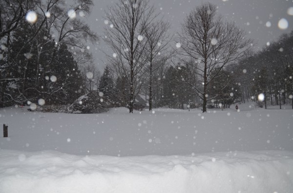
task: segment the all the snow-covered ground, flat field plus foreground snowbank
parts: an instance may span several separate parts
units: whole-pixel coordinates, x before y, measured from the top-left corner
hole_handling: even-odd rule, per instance
[[[293,193],[293,110],[0,109],[0,193]]]

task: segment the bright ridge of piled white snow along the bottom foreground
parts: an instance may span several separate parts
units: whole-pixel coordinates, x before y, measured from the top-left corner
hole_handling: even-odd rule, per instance
[[[0,150],[1,193],[292,193],[293,153],[72,156]]]

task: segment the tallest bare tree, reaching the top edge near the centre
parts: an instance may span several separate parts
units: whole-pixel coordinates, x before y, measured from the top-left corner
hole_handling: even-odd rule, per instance
[[[143,35],[153,18],[154,7],[149,6],[148,0],[119,0],[105,13],[110,27],[105,27],[104,40],[114,52],[108,59],[130,85],[129,113],[133,113],[133,103],[141,87],[142,68],[146,64],[143,53],[147,42]]]

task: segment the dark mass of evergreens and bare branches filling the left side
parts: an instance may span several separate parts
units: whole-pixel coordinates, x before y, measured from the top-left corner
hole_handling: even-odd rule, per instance
[[[92,0],[79,0],[72,6],[89,14],[92,5]],[[83,40],[97,42],[98,35],[82,20],[69,19],[68,7],[60,0],[10,0],[1,2],[1,8],[0,106],[37,103],[41,98],[66,104],[82,94],[77,62],[89,61],[90,54],[85,49],[72,55],[65,44],[82,48]],[[24,18],[29,10],[37,13],[36,21]],[[46,12],[51,16],[45,17]]]

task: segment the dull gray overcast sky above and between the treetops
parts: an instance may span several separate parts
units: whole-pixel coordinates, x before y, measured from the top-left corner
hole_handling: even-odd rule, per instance
[[[172,28],[171,33],[180,32],[180,23],[186,15],[201,2],[207,0],[150,0],[161,12],[164,19],[168,21]],[[104,18],[107,6],[116,3],[118,0],[94,0],[92,14],[87,18],[87,23],[92,30],[103,36],[105,27]],[[293,30],[293,0],[209,0],[218,6],[219,13],[227,20],[233,20],[236,24],[245,29],[248,36],[257,43],[256,48],[266,46],[267,42],[276,41],[283,33]],[[288,9],[292,7],[288,13]],[[287,29],[280,29],[278,26],[280,19],[286,19]],[[101,41],[98,46],[91,46],[95,63],[100,70],[104,69],[105,55],[101,52],[111,52]]]

